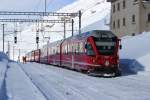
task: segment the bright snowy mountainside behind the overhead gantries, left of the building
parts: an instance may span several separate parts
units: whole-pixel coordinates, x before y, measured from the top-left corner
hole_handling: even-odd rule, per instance
[[[107,0],[88,0],[86,2],[85,0],[77,0],[76,2],[60,9],[58,12],[71,13],[71,12],[78,12],[78,11],[82,12],[82,18],[81,18],[82,32],[86,32],[86,31],[94,30],[94,29],[99,29],[99,30],[109,29],[108,24],[109,24],[109,18],[110,18],[110,3],[108,3]],[[51,18],[52,17],[45,17],[45,19],[51,19]],[[78,17],[75,17],[73,19],[75,21],[74,33],[78,34],[78,29],[79,29]],[[50,30],[63,31],[64,30],[63,24],[55,24]],[[66,25],[66,30],[71,30],[71,24]],[[62,39],[64,35],[63,32],[62,33],[53,32],[53,33],[48,33],[48,34],[52,34],[51,40],[50,40],[51,42],[56,41],[57,38]],[[67,37],[68,36],[71,36],[71,31],[67,32]]]

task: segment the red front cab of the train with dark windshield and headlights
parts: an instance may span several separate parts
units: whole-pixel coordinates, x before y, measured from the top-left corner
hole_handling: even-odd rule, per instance
[[[95,74],[121,74],[119,69],[118,39],[111,31],[93,31],[85,44],[88,72]]]

